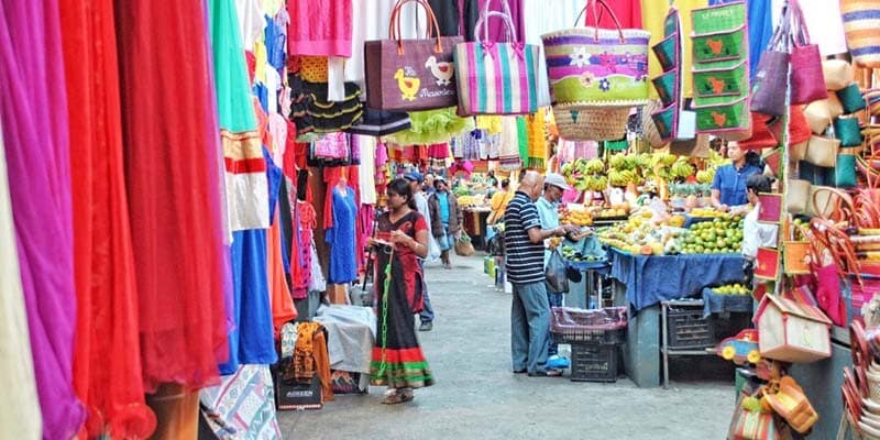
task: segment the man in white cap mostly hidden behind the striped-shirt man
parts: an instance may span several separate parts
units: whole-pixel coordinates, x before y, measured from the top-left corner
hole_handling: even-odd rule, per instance
[[[543,180],[543,195],[535,204],[538,208],[538,217],[541,219],[541,229],[552,230],[559,227],[559,201],[562,200],[562,194],[570,190],[571,187],[565,184],[565,178],[556,173],[547,173]],[[550,246],[544,242],[543,264],[547,267],[547,262],[550,260]],[[554,292],[549,284],[547,284],[547,300],[550,307],[562,307],[562,292]],[[569,360],[559,356],[559,346],[548,338],[549,348],[547,350],[547,366],[551,369],[568,369]]]

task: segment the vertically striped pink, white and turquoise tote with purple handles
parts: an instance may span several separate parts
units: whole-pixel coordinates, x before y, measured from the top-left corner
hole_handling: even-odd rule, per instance
[[[461,116],[534,113],[540,106],[539,90],[548,87],[538,75],[541,48],[516,41],[509,6],[506,0],[503,4],[505,12],[488,12],[490,2],[486,2],[474,29],[474,34],[483,40],[455,45],[453,59]],[[504,21],[508,42],[488,40],[487,22],[492,18]]]

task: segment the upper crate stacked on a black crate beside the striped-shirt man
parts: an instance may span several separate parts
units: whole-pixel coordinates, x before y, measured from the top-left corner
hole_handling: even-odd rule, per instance
[[[557,343],[622,343],[626,340],[626,307],[553,307],[550,333]]]

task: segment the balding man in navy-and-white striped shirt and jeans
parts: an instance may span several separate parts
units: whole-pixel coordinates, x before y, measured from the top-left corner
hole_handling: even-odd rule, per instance
[[[574,227],[541,229],[535,200],[540,196],[542,187],[541,175],[526,172],[504,213],[507,280],[514,286],[510,354],[514,373],[558,376],[560,371],[547,369],[550,305],[544,285],[543,241],[574,232],[571,230]]]

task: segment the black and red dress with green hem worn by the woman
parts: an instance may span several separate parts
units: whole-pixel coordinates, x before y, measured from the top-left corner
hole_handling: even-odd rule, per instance
[[[378,218],[378,234],[389,240],[399,230],[415,239],[428,224],[418,212],[410,211],[396,222],[386,212]],[[391,265],[391,278],[385,275]],[[392,254],[376,253],[374,278],[380,311],[376,317],[376,344],[370,362],[372,385],[391,388],[420,388],[433,385],[433,375],[416,338],[414,312],[421,310],[422,273],[411,249],[396,245]],[[387,287],[386,287],[387,284]]]

